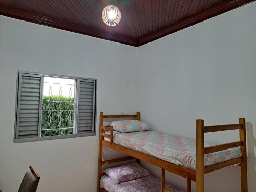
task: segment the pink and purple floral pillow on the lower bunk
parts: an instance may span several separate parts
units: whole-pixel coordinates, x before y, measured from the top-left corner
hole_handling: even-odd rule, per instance
[[[108,175],[115,183],[131,181],[136,178],[150,175],[148,170],[144,169],[138,163],[132,163],[122,165],[119,167],[108,168],[105,170]]]

